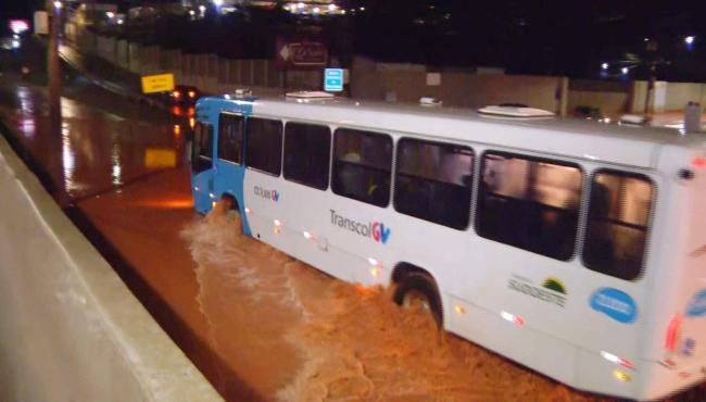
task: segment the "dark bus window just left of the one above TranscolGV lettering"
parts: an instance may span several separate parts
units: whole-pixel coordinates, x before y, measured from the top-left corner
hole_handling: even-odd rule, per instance
[[[328,126],[287,123],[285,126],[285,178],[326,190],[331,160]]]

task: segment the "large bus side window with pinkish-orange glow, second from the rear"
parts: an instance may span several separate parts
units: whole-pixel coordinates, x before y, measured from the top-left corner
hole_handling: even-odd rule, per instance
[[[488,152],[482,159],[476,231],[522,250],[573,255],[583,177],[559,161]]]

